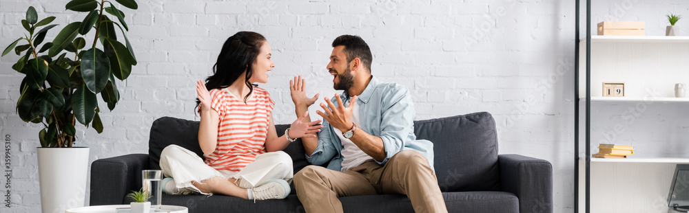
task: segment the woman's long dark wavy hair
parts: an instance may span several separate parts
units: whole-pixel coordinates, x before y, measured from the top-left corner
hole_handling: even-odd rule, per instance
[[[213,75],[206,78],[206,89],[210,91],[229,87],[246,71],[245,84],[249,87],[249,94],[244,97],[244,102],[247,102],[254,92],[254,85],[249,82],[249,78],[254,75],[254,63],[265,41],[263,35],[246,31],[227,38],[213,66]],[[196,107],[198,104],[200,101],[196,98]]]

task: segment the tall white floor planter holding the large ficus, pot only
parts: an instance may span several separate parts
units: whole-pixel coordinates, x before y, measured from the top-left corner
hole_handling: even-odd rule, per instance
[[[37,148],[41,210],[65,212],[84,206],[89,148]]]

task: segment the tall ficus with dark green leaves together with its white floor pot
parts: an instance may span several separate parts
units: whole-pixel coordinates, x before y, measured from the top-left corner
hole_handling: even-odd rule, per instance
[[[115,0],[136,10],[134,0]],[[118,5],[119,6],[119,5]],[[103,131],[96,94],[112,111],[119,101],[115,79],[125,80],[136,65],[125,31],[124,13],[111,1],[72,0],[65,10],[84,12],[83,20],[65,25],[52,42],[43,43],[56,24],[39,19],[32,6],[21,25],[27,31],[2,56],[14,50],[12,69],[24,74],[17,114],[24,122],[43,124],[38,133],[39,179],[43,212],[83,206],[88,148],[72,147],[76,122]],[[120,31],[122,37],[118,39]],[[88,39],[92,38],[92,39]],[[76,206],[72,206],[76,205]]]

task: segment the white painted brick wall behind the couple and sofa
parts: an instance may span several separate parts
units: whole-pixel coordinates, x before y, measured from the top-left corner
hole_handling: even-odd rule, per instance
[[[61,26],[81,21],[85,14],[65,11],[66,2],[0,0],[0,47],[23,34],[19,20],[29,5],[41,18],[56,16],[54,23]],[[260,32],[271,43],[276,68],[261,87],[276,100],[274,117],[281,124],[296,119],[287,91],[291,76],[305,76],[311,95],[331,96],[336,91],[325,70],[330,43],[340,34],[358,34],[371,46],[373,75],[409,87],[418,120],[493,113],[500,153],[551,161],[555,212],[573,211],[574,5],[570,1],[153,0],[138,4],[135,12],[119,7],[127,14],[127,35],[139,60],[132,76],[118,83],[122,100],[114,111],[101,114],[102,134],[77,128],[79,146],[91,147],[90,161],[147,153],[148,131],[158,117],[198,120],[194,80],[212,73],[220,47],[235,32]],[[596,1],[593,22],[646,21],[646,34],[661,35],[667,25],[663,15],[670,11],[689,17],[687,8],[689,3],[672,0]],[[686,23],[679,21],[680,29],[687,28]],[[52,30],[46,41],[57,32]],[[39,212],[34,147],[39,146],[41,126],[21,122],[14,113],[22,76],[10,66],[17,58],[14,54],[0,58],[0,135],[11,135],[14,168],[12,208],[3,206],[1,212]],[[651,106],[647,114],[672,109]],[[673,131],[683,134],[679,136],[689,135],[689,124],[671,116],[639,120],[644,126],[672,121]],[[606,126],[614,123],[612,119],[596,124],[600,130],[594,134],[609,131]],[[625,137],[655,138],[641,133]],[[672,146],[683,148],[681,143]]]

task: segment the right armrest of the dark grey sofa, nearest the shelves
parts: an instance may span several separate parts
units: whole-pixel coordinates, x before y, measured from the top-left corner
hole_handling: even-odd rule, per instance
[[[553,166],[544,159],[498,155],[500,186],[519,198],[521,213],[553,212]]]

